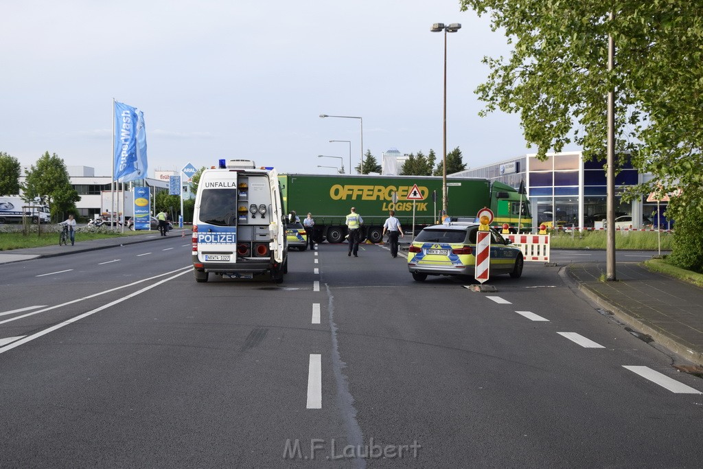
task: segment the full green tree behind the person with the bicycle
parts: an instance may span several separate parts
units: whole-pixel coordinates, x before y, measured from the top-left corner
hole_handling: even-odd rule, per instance
[[[81,200],[78,192],[71,185],[68,170],[63,159],[47,151],[30,166],[25,177],[23,192],[27,200],[41,197],[49,204],[51,218],[63,219],[63,215],[76,212],[76,203]],[[61,216],[59,216],[59,214]]]

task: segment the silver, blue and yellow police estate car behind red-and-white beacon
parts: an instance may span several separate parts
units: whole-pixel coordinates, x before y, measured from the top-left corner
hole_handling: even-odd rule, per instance
[[[491,231],[491,264],[489,276],[522,275],[523,257],[520,248],[512,245],[495,229]],[[428,275],[475,276],[476,236],[479,224],[453,222],[427,226],[415,237],[408,250],[408,271],[416,281]]]

